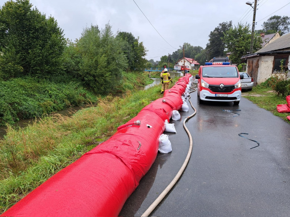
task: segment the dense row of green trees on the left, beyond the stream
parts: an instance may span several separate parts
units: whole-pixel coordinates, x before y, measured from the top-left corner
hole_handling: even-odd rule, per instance
[[[0,8],[0,80],[32,76],[70,76],[97,94],[114,93],[122,74],[145,68],[147,50],[132,33],[91,25],[72,42],[53,17],[46,18],[29,0]]]

